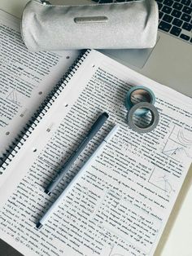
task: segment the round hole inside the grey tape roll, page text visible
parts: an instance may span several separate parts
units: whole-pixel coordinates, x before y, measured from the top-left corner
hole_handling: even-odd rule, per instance
[[[143,110],[146,109],[147,113],[143,116],[137,115],[137,110]],[[149,108],[137,108],[137,110],[133,113],[133,125],[137,126],[138,128],[147,128],[152,126],[154,123],[154,113]]]

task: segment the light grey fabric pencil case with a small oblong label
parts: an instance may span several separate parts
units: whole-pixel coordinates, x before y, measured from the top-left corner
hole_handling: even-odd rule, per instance
[[[78,6],[33,0],[24,8],[21,23],[29,51],[150,48],[157,28],[155,0]]]

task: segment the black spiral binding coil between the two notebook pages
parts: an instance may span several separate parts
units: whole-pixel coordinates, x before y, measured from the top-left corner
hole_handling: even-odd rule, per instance
[[[74,64],[68,68],[67,73],[63,75],[63,77],[55,85],[55,88],[50,91],[49,95],[47,95],[46,99],[37,109],[36,113],[33,114],[33,117],[31,117],[26,126],[24,126],[23,130],[20,131],[20,135],[18,135],[7,148],[6,152],[0,158],[0,174],[3,174],[3,170],[6,170],[7,166],[9,166],[17,152],[19,152],[20,148],[24,145],[26,139],[28,139],[29,135],[32,134],[35,127],[41,121],[42,117],[45,116],[50,106],[54,104],[55,99],[58,98],[64,87],[68,85],[68,82],[72,79],[73,75],[76,73],[76,70],[80,68],[87,55],[89,55],[89,51],[90,50],[83,51],[81,55],[76,58]]]

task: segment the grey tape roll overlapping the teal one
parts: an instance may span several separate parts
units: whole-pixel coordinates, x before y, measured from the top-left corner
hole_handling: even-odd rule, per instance
[[[146,108],[148,111],[151,112],[151,121],[149,124],[147,124],[146,126],[137,126],[137,124],[134,122],[134,118],[133,116],[137,114],[136,111],[139,108]],[[140,117],[138,117],[140,118]],[[134,131],[137,131],[138,133],[146,133],[146,132],[150,132],[151,130],[154,130],[155,127],[158,125],[159,122],[159,113],[157,108],[155,108],[155,106],[153,104],[150,104],[148,102],[140,102],[137,103],[135,105],[133,105],[133,107],[129,110],[129,113],[127,115],[127,121],[128,124],[130,126],[130,128]]]

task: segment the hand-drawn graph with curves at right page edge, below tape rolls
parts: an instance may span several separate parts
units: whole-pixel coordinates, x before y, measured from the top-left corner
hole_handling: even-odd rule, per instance
[[[185,161],[186,157],[192,158],[192,134],[174,126],[164,145],[163,153],[176,161]]]

